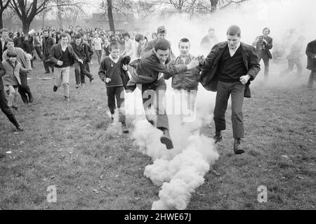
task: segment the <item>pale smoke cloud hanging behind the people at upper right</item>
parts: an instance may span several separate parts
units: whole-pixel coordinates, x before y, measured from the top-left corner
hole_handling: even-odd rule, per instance
[[[147,20],[150,30],[157,32],[157,27],[164,25],[167,30],[166,39],[171,41],[173,52],[178,55],[178,41],[184,37],[191,43],[193,55],[203,54],[204,57],[211,49],[202,49],[200,42],[210,27],[215,29],[218,41],[226,40],[226,31],[230,25],[238,25],[242,29],[241,41],[251,45],[256,37],[262,34],[264,27],[270,28],[269,36],[273,38],[274,51],[285,51],[279,60],[270,60],[270,77],[266,86],[272,88],[292,88],[302,86],[308,79],[308,71],[303,70],[303,77],[296,78],[294,71],[280,76],[280,72],[287,69],[287,55],[291,45],[300,35],[305,37],[302,48],[302,63],[306,66],[305,48],[308,42],[316,38],[316,29],[313,27],[312,16],[315,15],[316,1],[314,0],[251,0],[235,7],[217,11],[211,15],[196,15],[190,19],[189,15],[173,15],[169,18],[152,18]],[[290,30],[292,34],[289,35]],[[261,72],[251,86],[262,85],[264,65],[261,60]],[[201,87],[202,88],[202,87]]]

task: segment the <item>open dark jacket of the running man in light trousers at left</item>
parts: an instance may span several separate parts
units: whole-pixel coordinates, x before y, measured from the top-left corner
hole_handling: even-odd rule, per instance
[[[68,52],[70,54],[70,58],[68,58],[70,65],[74,65],[74,60],[79,60],[76,53],[74,53],[74,49],[70,44],[67,44]],[[62,47],[61,44],[55,44],[51,48],[51,52],[49,53],[48,60],[45,62],[51,63],[53,65],[56,65],[58,60],[62,58]]]

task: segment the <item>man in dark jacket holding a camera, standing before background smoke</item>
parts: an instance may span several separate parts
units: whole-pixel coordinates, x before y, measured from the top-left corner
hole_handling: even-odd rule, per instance
[[[269,60],[272,59],[270,50],[272,49],[272,37],[269,37],[270,29],[265,27],[263,29],[263,35],[258,36],[252,46],[256,47],[258,54],[258,62],[260,63],[261,59],[265,64],[265,81],[268,80],[269,75]]]

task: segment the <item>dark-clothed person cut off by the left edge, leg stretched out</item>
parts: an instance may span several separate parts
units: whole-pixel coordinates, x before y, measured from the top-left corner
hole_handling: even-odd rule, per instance
[[[0,108],[18,131],[23,131],[22,126],[18,123],[11,108],[8,106],[8,101],[6,100],[6,95],[4,94],[4,82],[2,81],[4,74],[6,74],[6,70],[4,70],[4,65],[0,62]]]

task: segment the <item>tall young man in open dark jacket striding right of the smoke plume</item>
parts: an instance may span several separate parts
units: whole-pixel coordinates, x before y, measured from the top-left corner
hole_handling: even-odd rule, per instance
[[[232,25],[227,31],[227,41],[216,44],[205,60],[199,57],[202,66],[201,84],[209,91],[217,91],[214,109],[215,143],[223,139],[226,129],[225,112],[228,98],[232,98],[232,132],[235,138],[234,152],[242,154],[241,138],[244,138],[242,105],[244,97],[250,97],[249,84],[260,71],[255,48],[240,42],[240,28]]]

